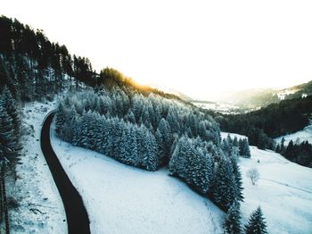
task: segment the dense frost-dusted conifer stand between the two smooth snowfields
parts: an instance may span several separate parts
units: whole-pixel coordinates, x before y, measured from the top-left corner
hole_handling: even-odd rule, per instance
[[[216,121],[176,100],[120,89],[69,94],[58,105],[56,132],[75,146],[148,171],[168,165],[225,211],[242,200],[237,158],[250,157],[248,140],[221,140]]]

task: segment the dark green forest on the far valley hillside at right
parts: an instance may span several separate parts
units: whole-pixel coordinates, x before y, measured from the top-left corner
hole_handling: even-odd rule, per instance
[[[275,148],[272,138],[302,130],[312,113],[312,96],[283,100],[258,111],[244,114],[211,113],[221,130],[236,132],[249,138],[261,149]]]

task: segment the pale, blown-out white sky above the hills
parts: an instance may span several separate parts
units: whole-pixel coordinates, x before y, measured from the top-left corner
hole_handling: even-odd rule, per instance
[[[312,1],[1,0],[94,69],[194,98],[312,79]]]

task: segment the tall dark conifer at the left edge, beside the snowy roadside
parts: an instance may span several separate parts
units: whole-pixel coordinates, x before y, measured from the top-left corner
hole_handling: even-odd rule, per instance
[[[19,160],[20,126],[17,104],[9,88],[4,87],[0,89],[0,163],[5,166],[5,171],[13,172]]]

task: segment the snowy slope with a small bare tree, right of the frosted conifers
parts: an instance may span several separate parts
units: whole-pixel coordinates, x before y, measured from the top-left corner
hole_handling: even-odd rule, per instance
[[[227,133],[221,136],[225,138]],[[250,153],[251,158],[239,159],[245,197],[242,221],[246,222],[250,213],[260,205],[269,233],[312,233],[312,169],[255,146],[250,146]],[[257,168],[260,173],[255,186],[246,176],[246,171],[251,168]]]

